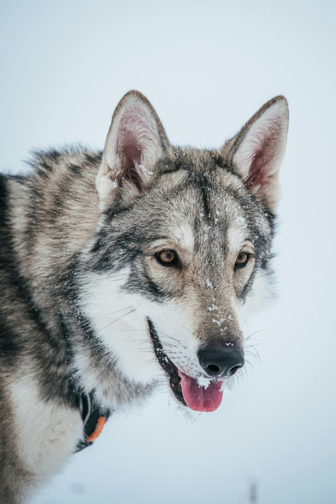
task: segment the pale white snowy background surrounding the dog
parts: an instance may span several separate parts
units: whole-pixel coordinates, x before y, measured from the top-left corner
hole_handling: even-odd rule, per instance
[[[102,148],[129,89],[172,142],[219,146],[266,100],[290,106],[280,298],[253,319],[261,362],[188,423],[157,394],[114,414],[34,504],[332,504],[335,433],[335,8],[311,2],[0,2],[0,165]],[[38,427],[37,427],[38,428]]]

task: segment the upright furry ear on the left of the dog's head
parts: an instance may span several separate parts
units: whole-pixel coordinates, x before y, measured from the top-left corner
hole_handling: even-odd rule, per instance
[[[125,204],[144,193],[157,174],[158,162],[173,159],[172,148],[154,108],[138,91],[118,103],[96,179],[101,209],[117,196]]]

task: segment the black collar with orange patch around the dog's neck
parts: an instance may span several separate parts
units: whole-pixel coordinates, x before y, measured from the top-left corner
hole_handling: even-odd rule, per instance
[[[76,452],[92,445],[111,414],[109,410],[102,410],[96,405],[93,392],[90,394],[82,392],[78,395],[78,408],[83,418],[84,439],[78,442]]]

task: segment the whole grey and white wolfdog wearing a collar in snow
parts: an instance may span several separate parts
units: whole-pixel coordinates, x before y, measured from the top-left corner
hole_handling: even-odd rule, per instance
[[[18,504],[164,379],[210,412],[272,276],[283,96],[219,149],[172,146],[139,92],[102,152],[0,178],[0,500]]]

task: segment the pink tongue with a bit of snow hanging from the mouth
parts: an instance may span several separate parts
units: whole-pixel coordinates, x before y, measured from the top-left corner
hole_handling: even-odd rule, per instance
[[[178,371],[184,401],[194,411],[215,411],[222,402],[223,392],[220,382],[210,382],[207,388],[200,387],[197,380]]]

